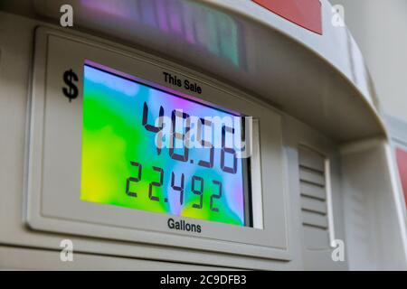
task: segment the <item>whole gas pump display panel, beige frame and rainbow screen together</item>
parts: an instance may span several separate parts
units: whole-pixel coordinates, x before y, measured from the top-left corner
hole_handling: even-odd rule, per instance
[[[290,260],[279,112],[177,63],[66,35],[36,31],[28,226]]]

